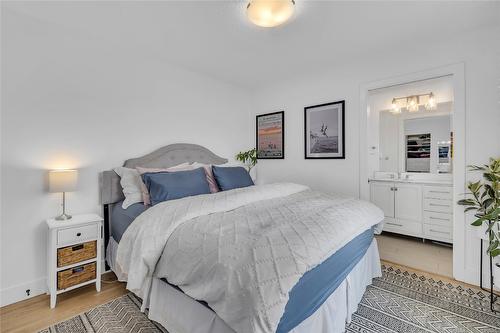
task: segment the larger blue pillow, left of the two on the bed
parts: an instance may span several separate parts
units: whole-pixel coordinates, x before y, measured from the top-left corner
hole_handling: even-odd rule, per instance
[[[210,193],[207,176],[203,168],[188,171],[145,173],[142,175],[142,180],[148,189],[152,205],[162,201]]]

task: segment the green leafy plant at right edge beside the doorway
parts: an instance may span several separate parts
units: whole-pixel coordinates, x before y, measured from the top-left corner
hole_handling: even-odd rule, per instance
[[[481,166],[471,165],[469,170],[482,172],[483,179],[469,182],[468,198],[458,201],[458,204],[466,206],[466,212],[475,211],[477,219],[472,222],[473,226],[488,225],[488,254],[496,257],[500,255],[500,158],[490,158],[489,164]]]

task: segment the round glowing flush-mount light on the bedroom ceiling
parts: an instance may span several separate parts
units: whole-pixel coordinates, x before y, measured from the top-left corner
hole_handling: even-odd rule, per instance
[[[251,0],[247,6],[248,19],[260,27],[276,27],[293,15],[294,0]]]

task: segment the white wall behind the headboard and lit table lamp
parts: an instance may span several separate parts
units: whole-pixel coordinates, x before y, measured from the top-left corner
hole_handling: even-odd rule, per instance
[[[71,214],[101,212],[98,173],[176,142],[252,146],[242,89],[136,57],[99,36],[2,13],[1,304],[45,291],[47,170],[78,168]]]

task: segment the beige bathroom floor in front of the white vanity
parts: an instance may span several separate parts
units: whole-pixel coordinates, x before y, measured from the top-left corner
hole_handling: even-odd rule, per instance
[[[386,234],[376,236],[380,259],[431,274],[453,277],[453,249],[421,239]]]

